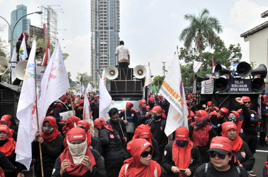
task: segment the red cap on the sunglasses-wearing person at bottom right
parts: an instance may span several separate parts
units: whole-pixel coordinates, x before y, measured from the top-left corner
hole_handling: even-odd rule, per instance
[[[228,154],[233,151],[232,141],[228,137],[216,136],[212,138],[210,149],[206,152],[215,151]]]

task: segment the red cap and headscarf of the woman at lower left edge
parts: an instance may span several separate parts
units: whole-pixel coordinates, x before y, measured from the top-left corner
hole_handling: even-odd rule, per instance
[[[0,151],[2,151],[5,156],[10,156],[13,150],[16,147],[16,141],[12,137],[9,136],[9,128],[5,125],[0,125],[0,132],[4,131],[7,133],[7,142],[4,145],[0,146]]]

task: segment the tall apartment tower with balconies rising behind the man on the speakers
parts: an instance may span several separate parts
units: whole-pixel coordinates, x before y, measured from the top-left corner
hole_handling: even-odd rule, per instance
[[[94,85],[99,84],[103,66],[118,64],[115,56],[119,45],[120,0],[91,0],[91,76]]]

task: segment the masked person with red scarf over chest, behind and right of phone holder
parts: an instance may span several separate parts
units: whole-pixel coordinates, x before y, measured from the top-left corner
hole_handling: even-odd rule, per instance
[[[189,125],[189,136],[199,148],[202,163],[208,162],[206,151],[209,149],[210,139],[217,136],[213,127],[209,125],[210,115],[204,110],[196,111],[195,121]]]

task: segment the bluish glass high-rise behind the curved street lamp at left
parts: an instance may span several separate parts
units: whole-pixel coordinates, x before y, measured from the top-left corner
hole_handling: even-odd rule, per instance
[[[13,29],[15,23],[18,19],[20,19],[23,15],[27,14],[27,7],[23,4],[17,5],[16,10],[13,10],[11,12],[11,19],[10,19],[10,27]],[[29,33],[29,25],[31,24],[31,20],[27,19],[27,16],[23,17],[18,24],[16,25],[14,32],[13,32],[13,42],[12,45],[15,45],[18,41],[18,37],[22,32],[28,32]],[[8,42],[11,41],[11,32],[8,29]]]

